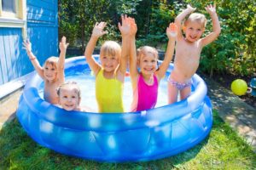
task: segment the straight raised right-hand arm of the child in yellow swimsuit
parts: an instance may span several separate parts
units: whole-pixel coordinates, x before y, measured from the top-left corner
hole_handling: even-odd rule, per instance
[[[119,72],[122,75],[121,79],[125,78],[126,64],[128,59],[128,47],[129,47],[129,33],[131,31],[131,26],[129,23],[130,18],[122,15],[122,25],[119,23],[119,31],[122,35],[122,50],[121,50],[121,59],[119,65]]]

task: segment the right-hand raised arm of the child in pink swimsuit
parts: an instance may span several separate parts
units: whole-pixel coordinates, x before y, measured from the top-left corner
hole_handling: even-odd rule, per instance
[[[165,59],[160,65],[159,70],[156,71],[159,80],[166,75],[166,71],[170,65],[170,62],[172,61],[175,47],[175,37],[177,36],[177,26],[174,23],[170,23],[169,27],[166,28],[166,35],[169,38],[169,41],[167,44]]]

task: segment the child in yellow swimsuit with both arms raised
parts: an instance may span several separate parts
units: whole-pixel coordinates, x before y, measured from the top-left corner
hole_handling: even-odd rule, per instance
[[[122,16],[119,31],[122,34],[122,48],[119,43],[107,41],[100,51],[101,65],[92,56],[99,37],[108,33],[103,31],[106,22],[96,23],[90,41],[85,48],[85,59],[96,75],[96,101],[99,112],[123,112],[123,86],[125,82],[126,60],[128,58],[128,41],[131,29],[129,18]]]

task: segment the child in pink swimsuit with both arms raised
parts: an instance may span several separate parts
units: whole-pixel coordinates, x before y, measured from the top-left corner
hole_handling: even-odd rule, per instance
[[[171,23],[166,29],[169,42],[166,49],[165,59],[157,67],[158,52],[155,48],[143,46],[137,49],[135,46],[135,35],[137,26],[131,19],[131,54],[130,54],[130,76],[133,89],[133,101],[131,111],[145,111],[154,108],[157,102],[158,86],[160,80],[166,75],[166,71],[172,61],[177,35],[177,26]],[[140,72],[137,71],[140,67]]]

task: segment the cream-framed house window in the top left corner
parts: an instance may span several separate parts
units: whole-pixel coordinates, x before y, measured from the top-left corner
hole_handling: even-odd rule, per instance
[[[26,37],[26,0],[0,0],[0,27],[22,28]]]

